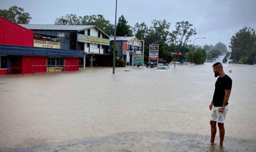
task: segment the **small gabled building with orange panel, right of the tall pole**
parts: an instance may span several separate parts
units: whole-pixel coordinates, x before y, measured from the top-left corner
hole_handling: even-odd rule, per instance
[[[114,37],[110,37],[110,48],[114,44]],[[126,65],[132,65],[132,47],[134,51],[142,51],[142,43],[135,36],[116,36],[118,57],[126,61]]]

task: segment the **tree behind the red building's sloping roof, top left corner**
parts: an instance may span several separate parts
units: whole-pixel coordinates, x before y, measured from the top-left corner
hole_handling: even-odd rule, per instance
[[[8,10],[0,9],[0,16],[17,24],[28,24],[32,20],[29,13],[24,12],[23,8],[17,6],[12,6]]]

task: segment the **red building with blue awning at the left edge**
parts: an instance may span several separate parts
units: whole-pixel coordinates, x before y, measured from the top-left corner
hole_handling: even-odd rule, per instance
[[[33,31],[0,16],[0,75],[75,71],[84,57],[80,50],[33,46]]]

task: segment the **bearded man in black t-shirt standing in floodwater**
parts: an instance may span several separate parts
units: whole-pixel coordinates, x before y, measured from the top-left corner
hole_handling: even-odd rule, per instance
[[[222,64],[220,62],[212,65],[212,69],[215,77],[218,77],[215,83],[215,90],[212,102],[209,109],[212,110],[211,124],[211,143],[214,143],[216,135],[216,123],[220,130],[220,146],[223,145],[225,129],[224,121],[228,112],[228,99],[232,88],[232,79],[226,75],[223,71]]]

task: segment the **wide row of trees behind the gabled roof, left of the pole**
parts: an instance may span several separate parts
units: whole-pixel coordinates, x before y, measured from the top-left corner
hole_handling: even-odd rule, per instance
[[[61,16],[56,18],[54,21],[56,25],[95,25],[106,34],[114,35],[114,25],[110,23],[109,20],[105,20],[103,15],[86,15],[86,16],[76,16],[76,14],[67,14],[66,16]]]

